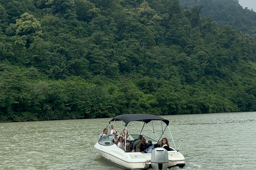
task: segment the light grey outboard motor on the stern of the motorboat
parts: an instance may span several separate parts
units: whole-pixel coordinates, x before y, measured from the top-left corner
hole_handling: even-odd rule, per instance
[[[154,170],[167,170],[169,165],[168,152],[164,148],[155,148],[151,152],[151,166]]]

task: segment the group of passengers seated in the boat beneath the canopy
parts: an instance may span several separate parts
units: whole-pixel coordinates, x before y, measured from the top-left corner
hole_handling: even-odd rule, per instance
[[[113,125],[110,126],[110,134],[114,135],[112,142],[117,145],[118,148],[125,150],[125,152],[142,152],[142,153],[151,153],[151,151],[156,147],[162,147],[167,151],[170,150],[170,146],[167,138],[163,138],[157,144],[153,145],[152,141],[146,142],[146,139],[143,138],[142,134],[139,134],[138,139],[134,140],[132,148],[130,147],[130,140],[133,140],[131,135],[129,135],[127,130],[123,130],[122,135],[113,128]],[[108,134],[108,129],[103,129],[103,132],[99,135],[99,140],[105,137]],[[126,140],[126,146],[125,146]]]

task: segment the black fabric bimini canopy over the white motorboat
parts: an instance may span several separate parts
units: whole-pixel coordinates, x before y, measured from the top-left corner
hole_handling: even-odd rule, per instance
[[[114,118],[111,119],[110,122],[114,121],[123,121],[126,126],[129,122],[132,121],[140,121],[140,122],[145,122],[148,123],[150,121],[163,121],[166,125],[169,125],[169,121],[166,120],[163,117],[156,116],[156,115],[149,115],[149,114],[126,114],[126,115],[118,115]]]

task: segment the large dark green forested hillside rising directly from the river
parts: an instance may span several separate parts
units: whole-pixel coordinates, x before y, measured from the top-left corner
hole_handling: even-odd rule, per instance
[[[201,10],[0,0],[0,121],[256,111],[254,39]]]

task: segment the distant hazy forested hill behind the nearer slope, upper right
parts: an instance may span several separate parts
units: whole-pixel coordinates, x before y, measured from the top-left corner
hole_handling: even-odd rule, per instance
[[[256,9],[243,8],[238,0],[180,0],[183,8],[200,8],[201,14],[220,25],[234,28],[256,39]]]

